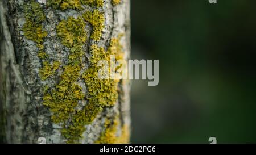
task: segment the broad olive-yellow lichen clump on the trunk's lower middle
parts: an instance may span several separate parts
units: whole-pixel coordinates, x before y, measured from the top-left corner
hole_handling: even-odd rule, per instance
[[[77,102],[84,98],[81,87],[76,83],[79,71],[77,66],[65,66],[60,83],[44,95],[43,104],[53,112],[54,123],[65,123],[75,112]]]

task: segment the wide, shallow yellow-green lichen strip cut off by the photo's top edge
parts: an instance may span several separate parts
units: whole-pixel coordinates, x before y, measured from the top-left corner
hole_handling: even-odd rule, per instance
[[[61,10],[82,8],[80,0],[48,0],[47,5]]]

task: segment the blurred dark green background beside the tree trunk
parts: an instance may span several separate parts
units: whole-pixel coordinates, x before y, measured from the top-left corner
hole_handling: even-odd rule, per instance
[[[255,6],[131,0],[132,58],[160,73],[133,81],[131,143],[256,143]]]

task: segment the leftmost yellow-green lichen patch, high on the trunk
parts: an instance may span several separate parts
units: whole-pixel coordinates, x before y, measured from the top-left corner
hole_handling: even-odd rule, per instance
[[[47,32],[43,31],[42,25],[43,21],[46,19],[43,9],[40,7],[39,3],[30,1],[24,5],[24,14],[26,17],[26,23],[22,28],[24,36],[36,43],[42,43],[44,37],[47,36]]]

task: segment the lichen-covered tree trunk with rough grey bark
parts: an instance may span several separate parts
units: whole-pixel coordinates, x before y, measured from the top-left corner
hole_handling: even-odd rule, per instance
[[[130,0],[1,0],[0,37],[1,143],[129,143],[130,82],[96,60],[129,58]]]

